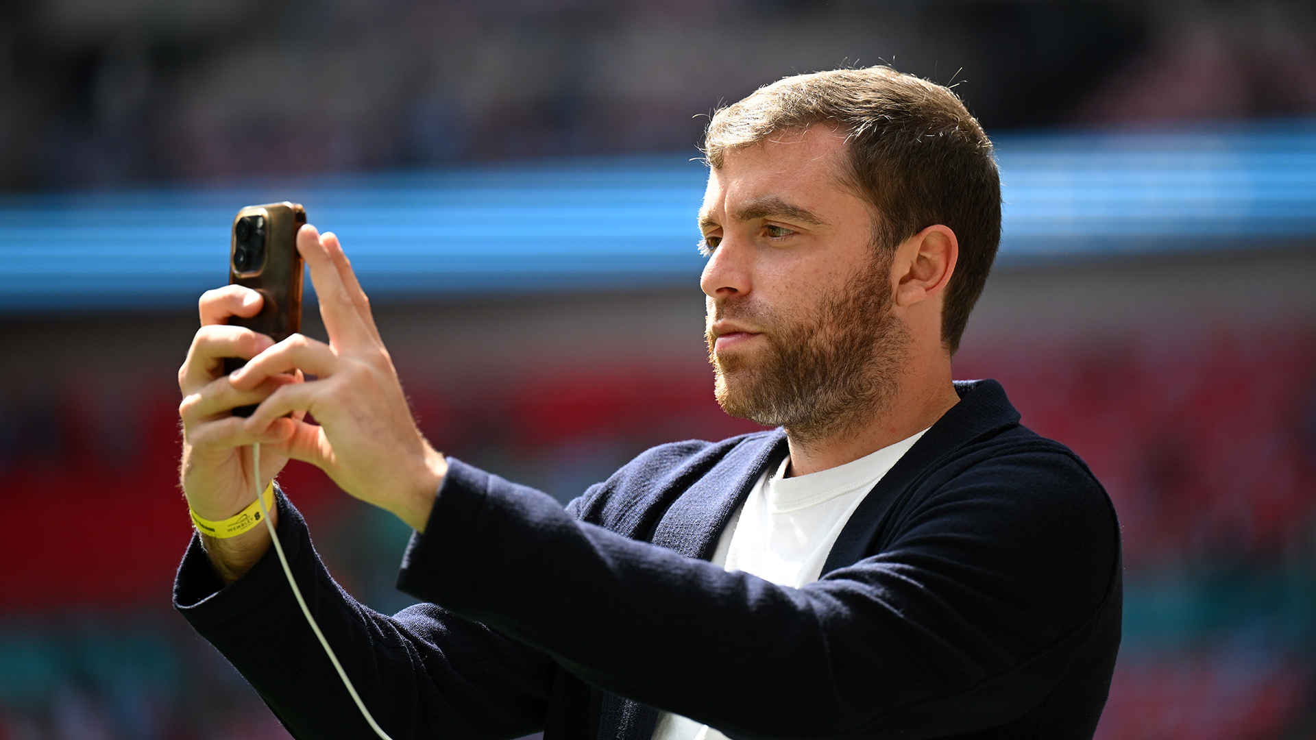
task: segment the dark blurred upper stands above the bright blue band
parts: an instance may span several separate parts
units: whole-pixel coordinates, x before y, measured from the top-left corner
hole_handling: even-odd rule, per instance
[[[16,0],[0,188],[691,151],[759,84],[892,63],[988,133],[1316,111],[1302,0]]]

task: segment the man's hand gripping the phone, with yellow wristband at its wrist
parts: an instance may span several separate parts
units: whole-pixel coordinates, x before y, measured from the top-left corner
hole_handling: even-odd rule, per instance
[[[255,316],[261,294],[242,286],[207,291],[200,300],[201,328],[192,338],[187,359],[178,371],[183,403],[183,462],[180,477],[187,504],[199,516],[224,520],[247,507],[255,498],[251,470],[251,442],[261,442],[261,482],[268,483],[288,461],[287,442],[292,420],[276,420],[263,435],[243,431],[243,419],[233,408],[265,400],[278,387],[300,382],[300,373],[274,375],[249,391],[240,391],[224,374],[224,358],[250,359],[274,345],[274,340],[243,327],[230,327],[229,316]],[[296,419],[304,412],[293,415]],[[278,516],[276,512],[270,512]],[[271,520],[276,524],[278,519]],[[266,527],[254,527],[224,540],[201,537],[215,571],[232,583],[270,548]]]

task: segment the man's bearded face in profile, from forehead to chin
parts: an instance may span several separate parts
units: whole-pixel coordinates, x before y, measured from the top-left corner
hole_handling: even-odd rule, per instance
[[[840,180],[845,154],[825,126],[729,151],[700,211],[717,402],[799,441],[871,419],[908,342],[873,208]]]

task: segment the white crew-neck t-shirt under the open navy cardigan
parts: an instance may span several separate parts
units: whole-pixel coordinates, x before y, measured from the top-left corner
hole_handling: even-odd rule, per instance
[[[878,452],[797,478],[786,478],[787,457],[765,470],[730,519],[713,564],[799,587],[819,579],[832,545],[850,515],[926,432]],[[721,732],[684,716],[662,712],[654,740],[726,740]]]

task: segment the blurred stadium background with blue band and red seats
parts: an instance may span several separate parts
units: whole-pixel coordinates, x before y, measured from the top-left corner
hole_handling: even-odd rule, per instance
[[[168,607],[175,371],[249,203],[340,233],[426,435],[562,500],[753,425],[700,338],[700,113],[951,83],[1001,257],[957,356],[1125,536],[1103,740],[1316,737],[1316,12],[1158,0],[0,7],[0,740],[287,737]],[[308,333],[320,329],[312,319]],[[371,606],[408,531],[284,482]]]

